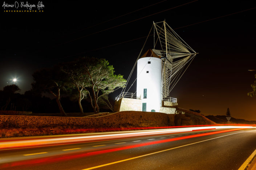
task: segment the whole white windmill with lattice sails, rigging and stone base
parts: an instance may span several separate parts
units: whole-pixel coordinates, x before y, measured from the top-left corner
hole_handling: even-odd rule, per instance
[[[141,103],[140,109],[137,107],[133,110],[163,112],[166,110],[162,107],[164,106],[163,101],[176,103],[176,98],[170,97],[170,92],[197,54],[165,21],[153,22],[148,37],[152,34],[152,28],[154,28],[154,48],[141,55],[144,44],[135,63],[135,65],[137,64],[137,94],[128,93],[131,87],[126,92],[125,87],[116,98],[118,101],[120,98],[136,97],[137,101],[135,101],[136,99],[132,102],[129,101],[131,104],[126,103],[127,107],[124,106],[124,108],[131,109],[133,105],[138,106]],[[119,108],[121,106],[122,103]]]

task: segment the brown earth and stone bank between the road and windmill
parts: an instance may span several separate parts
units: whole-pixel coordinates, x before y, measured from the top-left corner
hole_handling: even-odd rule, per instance
[[[129,128],[213,124],[192,113],[122,111],[98,117],[0,115],[0,137],[122,131]]]

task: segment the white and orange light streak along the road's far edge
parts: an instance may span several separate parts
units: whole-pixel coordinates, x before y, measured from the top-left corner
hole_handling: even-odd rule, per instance
[[[148,135],[163,135],[167,133],[179,133],[179,132],[190,132],[198,130],[208,129],[230,129],[230,128],[256,128],[253,126],[202,126],[202,127],[186,127],[186,128],[168,128],[168,129],[150,129],[140,131],[121,131],[121,132],[101,132],[101,133],[85,133],[85,134],[72,134],[72,135],[58,135],[42,137],[39,139],[17,139],[8,140],[3,139],[0,141],[0,150],[22,148],[22,147],[33,147],[33,146],[44,146],[44,145],[55,145],[55,144],[70,144],[78,142],[98,141],[98,140],[109,140],[109,139],[120,139],[127,137],[138,137]],[[65,137],[62,137],[65,136]],[[25,137],[26,138],[26,137]]]

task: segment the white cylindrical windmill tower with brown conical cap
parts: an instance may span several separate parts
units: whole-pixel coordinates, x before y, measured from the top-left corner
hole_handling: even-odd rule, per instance
[[[162,106],[162,59],[151,49],[137,63],[137,99],[142,111],[159,112]]]

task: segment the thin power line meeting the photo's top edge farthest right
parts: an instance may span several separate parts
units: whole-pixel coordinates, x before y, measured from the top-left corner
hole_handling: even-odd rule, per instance
[[[123,24],[119,24],[119,25],[116,25],[116,26],[113,26],[113,27],[109,27],[109,28],[104,29],[104,30],[101,30],[101,31],[97,31],[97,32],[92,33],[92,34],[84,35],[84,36],[82,36],[82,37],[78,37],[78,38],[76,38],[76,39],[73,39],[73,40],[70,40],[70,41],[67,41],[67,42],[58,44],[58,45],[63,45],[63,44],[66,44],[66,43],[70,43],[70,42],[76,41],[76,40],[78,40],[78,39],[88,37],[88,36],[90,36],[90,35],[98,34],[98,33],[101,33],[101,32],[103,32],[103,31],[107,31],[107,30],[110,30],[110,29],[113,29],[113,28],[116,28],[116,27],[119,27],[119,26],[122,26],[122,25],[125,25],[125,24],[129,24],[129,23],[134,22],[134,21],[141,20],[141,19],[143,19],[143,18],[147,18],[147,17],[153,16],[153,15],[155,15],[155,14],[159,14],[159,13],[162,13],[162,12],[166,12],[167,10],[171,10],[171,9],[174,9],[174,8],[181,7],[181,6],[183,6],[183,5],[187,5],[187,4],[193,3],[193,2],[195,2],[195,1],[198,1],[198,0],[194,0],[194,1],[191,1],[191,2],[189,2],[189,3],[185,3],[185,4],[182,4],[182,5],[178,5],[178,6],[176,6],[176,7],[172,7],[172,8],[169,8],[169,9],[165,9],[165,10],[162,10],[162,11],[160,11],[160,12],[157,12],[157,13],[154,13],[154,14],[150,14],[150,15],[145,16],[145,17],[138,18],[138,19],[136,19],[136,20],[128,21],[128,22],[125,22],[125,23],[123,23]]]

